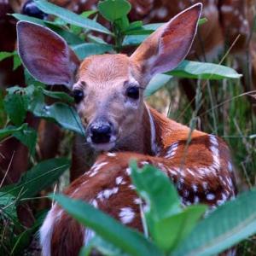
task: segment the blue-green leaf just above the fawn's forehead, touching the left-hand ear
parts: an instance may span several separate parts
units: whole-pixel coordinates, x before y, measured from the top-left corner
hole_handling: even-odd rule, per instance
[[[100,55],[113,51],[113,47],[110,44],[84,43],[74,46],[73,51],[79,56],[80,60],[84,60],[90,55]]]

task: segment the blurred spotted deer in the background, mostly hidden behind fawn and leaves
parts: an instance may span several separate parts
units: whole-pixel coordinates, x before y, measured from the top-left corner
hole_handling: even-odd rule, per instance
[[[63,8],[70,9],[76,13],[81,13],[86,9],[96,9],[97,0],[83,1],[59,1],[51,0],[51,3],[55,3]],[[130,0],[131,3],[131,14],[129,15],[130,20],[143,20],[144,23],[148,22],[166,22],[170,17],[177,15],[181,10],[189,7],[194,0]],[[207,22],[199,27],[198,33],[195,37],[195,43],[189,50],[188,58],[190,60],[200,60],[200,61],[213,61],[218,57],[218,54],[224,50],[224,44],[228,41],[228,45],[234,43],[238,35],[240,38],[236,41],[236,44],[231,48],[230,53],[235,56],[237,67],[241,70],[242,67],[247,67],[247,59],[244,53],[247,48],[252,58],[252,65],[250,67],[252,76],[248,79],[245,84],[245,90],[254,90],[256,84],[256,47],[253,40],[250,40],[250,30],[253,23],[253,4],[255,0],[247,1],[230,1],[230,0],[213,0],[213,1],[201,1],[204,4],[204,9],[202,10],[202,16],[207,17]],[[32,0],[11,0],[9,1],[11,8],[17,12],[24,15],[31,15],[41,19],[47,19],[47,15],[40,11],[36,4]],[[106,20],[100,20],[105,26],[108,25]],[[14,76],[12,76],[14,77]],[[193,81],[188,79],[182,79],[180,84],[188,97],[189,101],[194,104],[195,99],[195,84]],[[53,157],[58,152],[58,143],[52,143],[48,140],[48,137],[54,132],[54,137],[58,137],[59,141],[61,139],[61,131],[58,127],[51,123],[45,123],[41,121],[39,124],[39,147],[40,155],[42,159],[47,159]],[[84,172],[84,166],[87,170],[90,169],[93,162],[96,160],[96,152],[94,148],[87,147],[80,143],[81,137],[76,136],[73,143],[73,160],[72,168],[70,171],[70,180],[73,181],[75,178],[79,177]],[[13,154],[12,150],[9,150],[10,142],[7,141],[3,144],[1,151],[2,154],[6,155],[5,159],[0,161],[3,168],[6,170],[9,166],[9,161]],[[23,148],[22,145],[20,148]],[[116,150],[126,150],[126,145],[121,148],[116,148]],[[128,147],[129,149],[129,147]],[[26,149],[25,149],[26,150]],[[24,150],[21,149],[21,152]],[[15,153],[14,159],[20,158],[17,162],[24,161],[28,158],[28,154],[20,157],[21,154]],[[85,155],[88,157],[85,159]],[[23,166],[27,166],[28,161]],[[13,173],[12,180],[17,180],[20,178],[20,173],[15,173],[19,166],[15,165],[15,162],[10,166],[10,172]],[[24,169],[24,168],[23,168]],[[23,170],[24,172],[26,168]],[[3,171],[4,172],[4,171]]]

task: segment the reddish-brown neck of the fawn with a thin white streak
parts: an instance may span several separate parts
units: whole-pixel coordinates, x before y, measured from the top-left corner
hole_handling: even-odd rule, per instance
[[[166,118],[165,115],[145,104],[142,121],[138,122],[136,131],[131,134],[131,137],[126,137],[124,141],[119,142],[116,151],[160,155],[162,150],[171,146],[172,143],[186,141],[189,137],[198,137],[203,134],[197,130],[190,134],[188,126]]]

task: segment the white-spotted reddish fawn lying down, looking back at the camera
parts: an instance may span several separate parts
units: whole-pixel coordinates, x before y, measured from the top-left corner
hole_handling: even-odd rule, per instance
[[[177,67],[189,53],[201,9],[202,4],[196,3],[174,16],[131,56],[91,55],[81,63],[65,40],[49,28],[26,21],[17,24],[24,66],[35,79],[65,84],[73,91],[86,127],[86,143],[101,152],[90,170],[75,179],[64,194],[87,201],[139,231],[143,231],[141,200],[131,183],[130,160],[166,173],[184,206],[204,203],[214,210],[236,196],[227,144],[167,119],[143,101],[149,80]],[[55,203],[40,229],[42,253],[78,255],[93,236]]]

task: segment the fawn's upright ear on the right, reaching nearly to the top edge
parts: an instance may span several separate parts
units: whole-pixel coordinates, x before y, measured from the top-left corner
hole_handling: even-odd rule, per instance
[[[164,73],[177,67],[188,54],[195,38],[202,4],[196,3],[160,26],[131,55],[151,79],[156,73]]]

